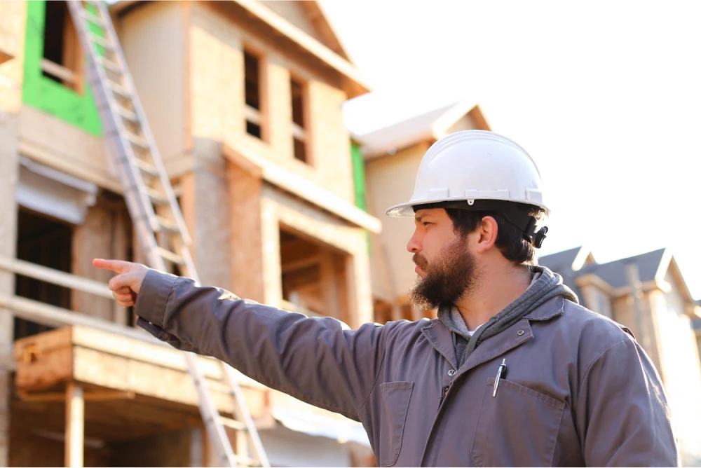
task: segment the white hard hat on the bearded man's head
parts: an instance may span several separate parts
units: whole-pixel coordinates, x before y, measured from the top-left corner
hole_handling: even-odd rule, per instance
[[[543,208],[540,172],[533,158],[510,139],[485,130],[451,133],[426,151],[414,195],[387,209],[388,216],[414,216],[425,203],[502,200]]]

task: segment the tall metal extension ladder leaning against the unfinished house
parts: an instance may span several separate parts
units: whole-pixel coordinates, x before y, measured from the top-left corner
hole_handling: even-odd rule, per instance
[[[182,212],[127,67],[107,6],[102,0],[66,0],[88,58],[88,76],[104,126],[104,137],[116,166],[124,198],[151,268],[199,278],[188,246]],[[236,374],[222,363],[236,419],[223,418],[207,386],[196,355],[184,352],[195,385],[200,413],[222,467],[270,468],[246,406]],[[236,434],[236,450],[224,426]]]

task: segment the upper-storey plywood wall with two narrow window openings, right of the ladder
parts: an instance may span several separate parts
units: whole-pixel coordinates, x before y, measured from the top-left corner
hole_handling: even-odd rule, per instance
[[[352,203],[349,137],[341,121],[341,104],[347,98],[346,93],[226,15],[219,4],[193,4],[190,34],[193,137],[215,139],[230,146],[243,144]],[[267,142],[245,132],[244,44],[261,53],[265,64]],[[290,71],[308,85],[312,166],[292,156]]]

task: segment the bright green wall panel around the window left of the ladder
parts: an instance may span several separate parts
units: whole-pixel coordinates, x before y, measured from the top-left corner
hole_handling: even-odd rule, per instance
[[[91,7],[93,8],[93,7]],[[83,92],[78,93],[57,83],[41,70],[43,58],[46,0],[27,1],[27,33],[25,37],[25,77],[22,83],[22,102],[39,111],[74,125],[91,135],[102,135],[100,113],[97,111],[93,90],[85,80]],[[93,32],[104,36],[95,25]],[[97,46],[100,49],[99,46]],[[98,50],[98,52],[102,52]]]

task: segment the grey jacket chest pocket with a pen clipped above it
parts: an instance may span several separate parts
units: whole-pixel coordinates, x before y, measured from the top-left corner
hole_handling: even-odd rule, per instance
[[[565,404],[529,387],[486,382],[470,456],[477,467],[550,467]]]

